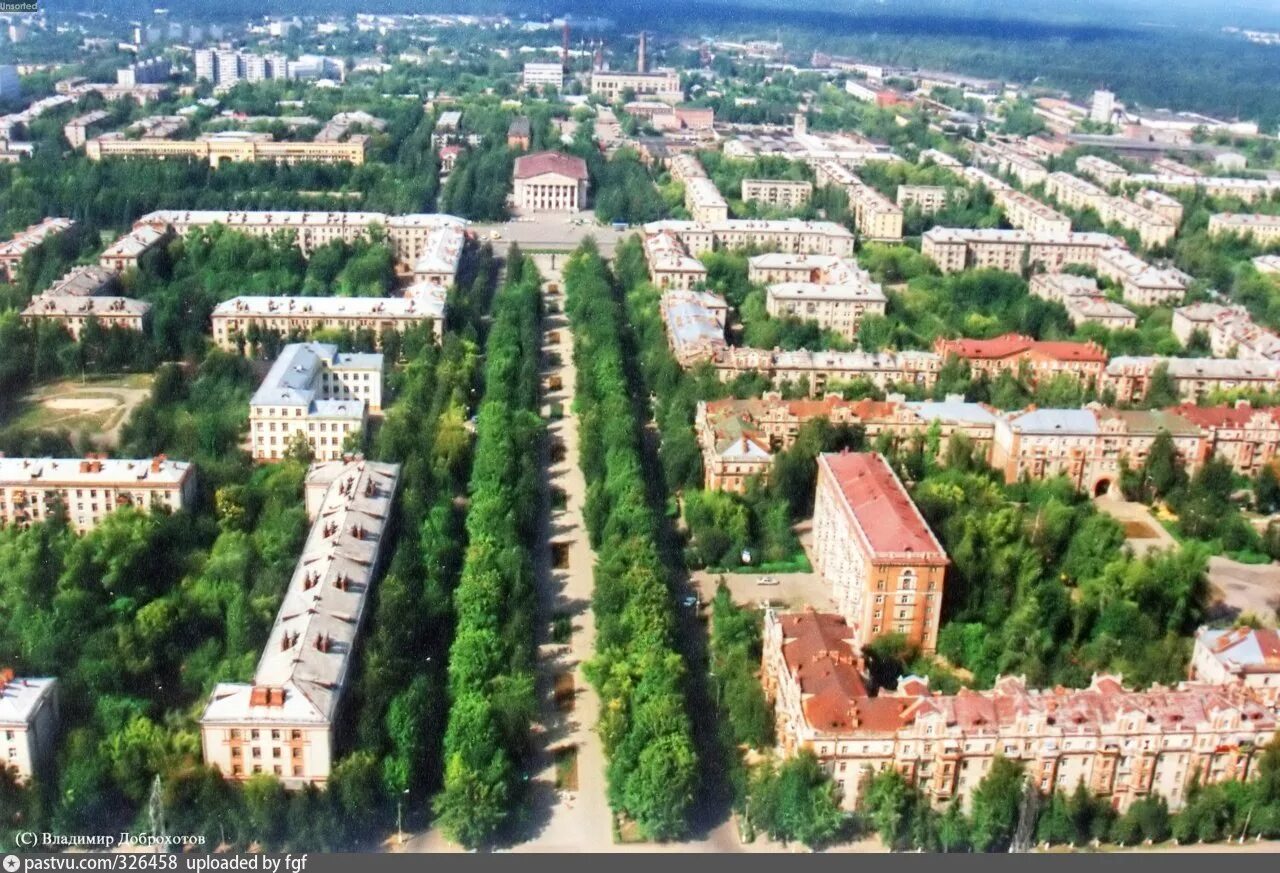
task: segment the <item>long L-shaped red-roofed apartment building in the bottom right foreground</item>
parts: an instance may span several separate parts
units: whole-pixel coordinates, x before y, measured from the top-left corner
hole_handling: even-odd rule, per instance
[[[1130,691],[1094,675],[1087,689],[1030,690],[1004,676],[989,691],[940,695],[908,676],[870,696],[851,631],[838,616],[768,611],[762,671],[778,748],[813,751],[847,809],[867,776],[890,768],[936,805],[968,806],[997,757],[1023,762],[1043,794],[1084,783],[1120,812],[1152,794],[1176,809],[1193,782],[1252,778],[1276,728],[1239,685]]]

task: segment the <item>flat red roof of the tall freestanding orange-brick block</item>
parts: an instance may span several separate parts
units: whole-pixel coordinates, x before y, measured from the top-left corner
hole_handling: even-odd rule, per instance
[[[818,470],[819,479],[835,479],[873,553],[910,553],[914,563],[947,563],[946,552],[882,454],[827,453],[818,458]]]

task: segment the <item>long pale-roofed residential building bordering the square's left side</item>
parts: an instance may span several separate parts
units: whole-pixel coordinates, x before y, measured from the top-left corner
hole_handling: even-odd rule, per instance
[[[383,212],[303,212],[303,211],[236,211],[236,210],[160,210],[148,212],[133,227],[169,228],[179,236],[192,229],[221,225],[228,230],[253,237],[273,237],[280,232],[293,234],[303,255],[335,239],[356,242],[369,239],[380,229],[392,247],[398,270],[411,273],[416,280],[451,285],[466,243],[466,219],[453,215],[415,212],[385,215]]]

